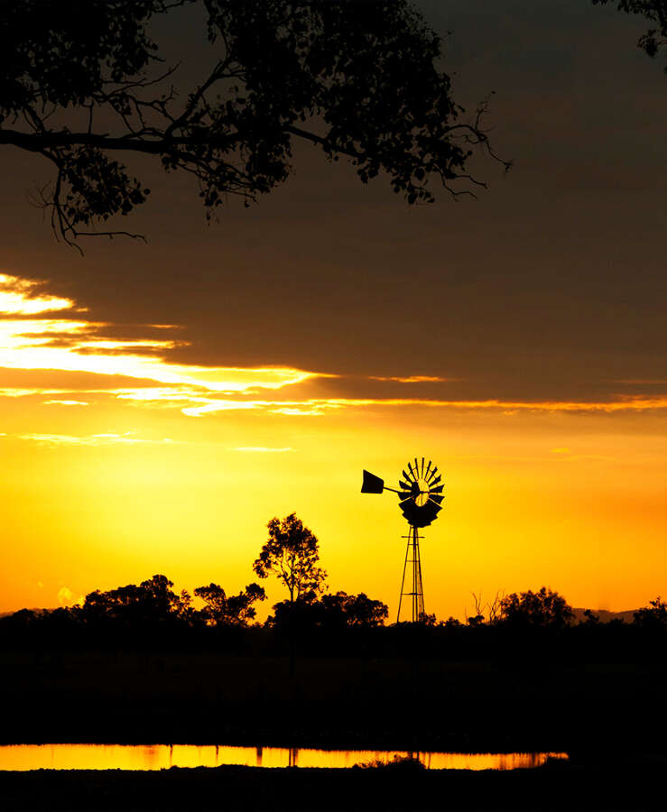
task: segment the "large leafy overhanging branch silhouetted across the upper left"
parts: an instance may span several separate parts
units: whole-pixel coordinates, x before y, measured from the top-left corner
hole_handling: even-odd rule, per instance
[[[188,6],[206,17],[212,69],[171,81],[150,24]],[[293,143],[381,172],[408,203],[476,186],[467,163],[491,150],[438,67],[440,37],[411,0],[14,0],[0,15],[0,144],[42,155],[55,233],[70,245],[108,231],[150,194],[123,158],[140,154],[199,182],[207,217],[228,195],[255,201],[290,173]],[[202,60],[203,62],[204,60]],[[505,168],[509,168],[509,164]],[[104,230],[99,231],[100,227]]]

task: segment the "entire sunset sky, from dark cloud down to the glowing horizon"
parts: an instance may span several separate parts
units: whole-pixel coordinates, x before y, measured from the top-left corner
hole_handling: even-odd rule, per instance
[[[667,78],[641,21],[584,0],[421,0],[502,157],[476,200],[408,207],[295,145],[292,177],[208,225],[190,179],[148,238],[55,242],[45,161],[0,152],[0,611],[163,573],[237,592],[266,523],[320,540],[329,589],[395,618],[415,456],[444,472],[426,611],[551,586],[625,610],[667,576]],[[206,67],[199,23],[157,32]],[[206,62],[208,64],[208,62]],[[285,595],[264,583],[270,604]]]

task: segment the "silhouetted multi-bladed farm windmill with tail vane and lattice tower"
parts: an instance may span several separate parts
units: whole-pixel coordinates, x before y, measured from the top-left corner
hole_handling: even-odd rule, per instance
[[[412,604],[412,623],[422,620],[424,613],[424,588],[422,584],[422,558],[419,552],[419,535],[422,527],[427,527],[438,517],[442,510],[441,503],[445,498],[442,491],[444,484],[440,484],[442,475],[438,473],[438,466],[429,460],[428,464],[422,457],[422,462],[414,457],[414,465],[409,462],[401,472],[403,479],[399,480],[399,490],[389,488],[384,479],[364,471],[364,482],[361,485],[362,494],[382,494],[383,491],[392,491],[398,494],[398,506],[408,521],[408,540],[403,563],[403,578],[401,580],[401,595],[398,599],[398,614],[396,623],[401,620],[401,606],[403,597],[409,597]],[[408,568],[410,565],[410,568]],[[405,588],[405,576],[408,576],[410,591]]]

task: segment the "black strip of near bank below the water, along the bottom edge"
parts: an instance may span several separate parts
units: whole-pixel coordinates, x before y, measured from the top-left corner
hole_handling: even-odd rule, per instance
[[[0,773],[10,810],[653,810],[664,765],[547,763],[536,770],[266,770]]]

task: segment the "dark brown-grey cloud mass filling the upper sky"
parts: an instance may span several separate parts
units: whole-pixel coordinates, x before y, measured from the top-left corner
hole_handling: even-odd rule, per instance
[[[635,50],[641,22],[586,0],[419,5],[453,32],[444,64],[461,102],[496,90],[493,140],[516,166],[503,177],[480,162],[477,201],[408,209],[385,180],[363,187],[299,147],[283,188],[207,227],[190,179],[138,161],[153,196],[133,227],[149,244],[89,241],[81,260],[23,203],[48,169],[5,153],[2,270],[49,278],[117,325],[107,337],[182,325],[190,344],[174,362],[341,374],[301,384],[331,397],[405,394],[369,375],[459,379],[411,384],[420,396],[536,401],[605,400],[631,391],[614,381],[660,378],[667,83]],[[162,32],[173,49],[176,33]],[[187,37],[194,73],[204,57]]]

